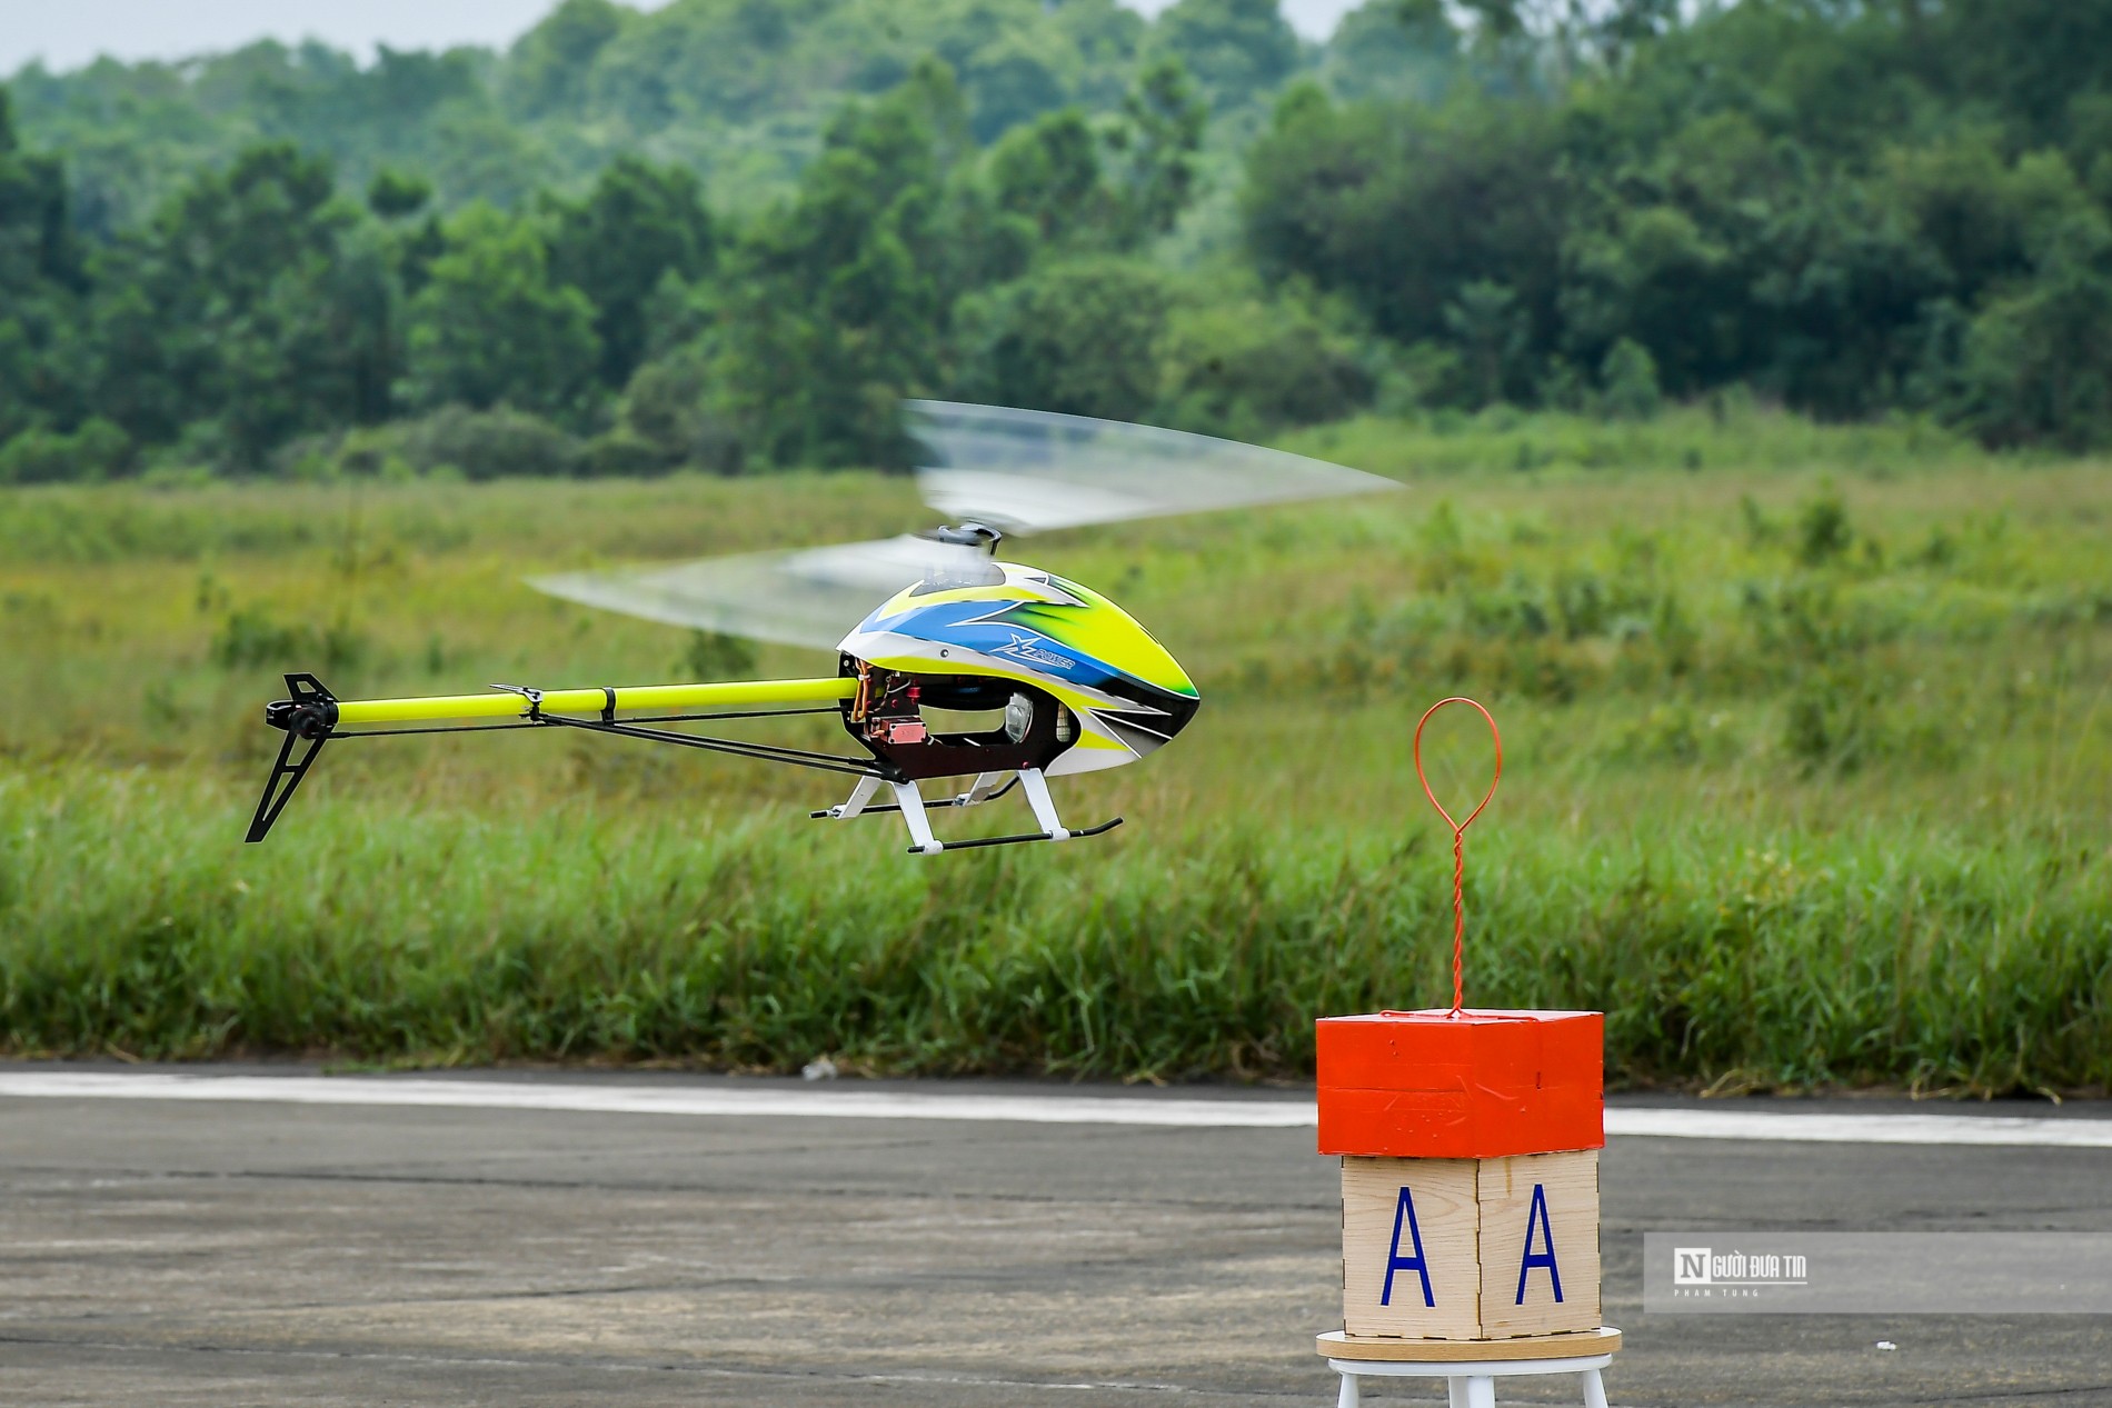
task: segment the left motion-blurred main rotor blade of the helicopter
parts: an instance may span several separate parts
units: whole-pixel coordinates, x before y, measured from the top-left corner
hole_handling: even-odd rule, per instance
[[[980,562],[980,549],[904,534],[663,568],[564,572],[528,585],[625,616],[828,650],[904,587]]]

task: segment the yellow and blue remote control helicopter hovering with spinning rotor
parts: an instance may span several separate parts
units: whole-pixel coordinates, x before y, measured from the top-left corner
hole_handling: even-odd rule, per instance
[[[923,500],[955,521],[874,543],[530,578],[568,602],[646,621],[834,648],[809,680],[532,688],[338,699],[285,676],[264,707],[285,739],[247,840],[264,840],[325,743],[488,728],[564,728],[841,773],[851,796],[811,817],[898,813],[912,855],[1100,836],[1069,830],[1048,779],[1136,762],[1195,718],[1195,682],[1098,591],[1016,562],[1014,534],[1398,488],[1392,479],[1208,435],[948,401],[904,403]],[[879,606],[872,602],[879,600]],[[855,623],[849,633],[847,623]],[[982,713],[974,732],[934,711]],[[860,751],[699,732],[727,720],[836,713]],[[927,802],[921,783],[967,779]],[[887,798],[883,798],[883,787]],[[927,806],[980,806],[1018,787],[1033,832],[942,842]]]

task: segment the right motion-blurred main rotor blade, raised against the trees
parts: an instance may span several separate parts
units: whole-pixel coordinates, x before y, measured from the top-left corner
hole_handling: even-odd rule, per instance
[[[923,500],[1014,534],[1400,488],[1214,435],[1003,405],[902,405],[929,452],[917,471]]]

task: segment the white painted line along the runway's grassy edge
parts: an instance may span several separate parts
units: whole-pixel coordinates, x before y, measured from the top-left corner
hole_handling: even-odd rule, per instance
[[[0,1096],[55,1100],[237,1100],[583,1115],[739,1115],[760,1119],[950,1119],[1029,1125],[1157,1125],[1176,1129],[1309,1129],[1307,1100],[1121,1096],[974,1096],[898,1089],[600,1085],[579,1081],[429,1081],[391,1077],[222,1077],[87,1070],[0,1070]],[[1614,1106],[1618,1138],[1802,1144],[1990,1144],[2112,1148],[2112,1119],[2017,1115],[1802,1115]]]

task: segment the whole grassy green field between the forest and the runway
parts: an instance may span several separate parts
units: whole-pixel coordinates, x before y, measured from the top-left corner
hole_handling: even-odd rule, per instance
[[[1740,405],[1290,448],[1407,488],[1014,545],[1140,616],[1204,713],[1058,789],[1115,834],[925,861],[809,823],[838,779],[547,735],[334,745],[239,840],[281,669],[828,671],[520,578],[925,526],[906,481],[13,490],[0,1047],[1297,1077],[1316,1013],[1449,1003],[1409,735],[1472,692],[1506,770],[1470,1003],[1603,1007],[1628,1083],[2112,1087],[2104,462]],[[1487,777],[1453,713],[1447,798]]]

